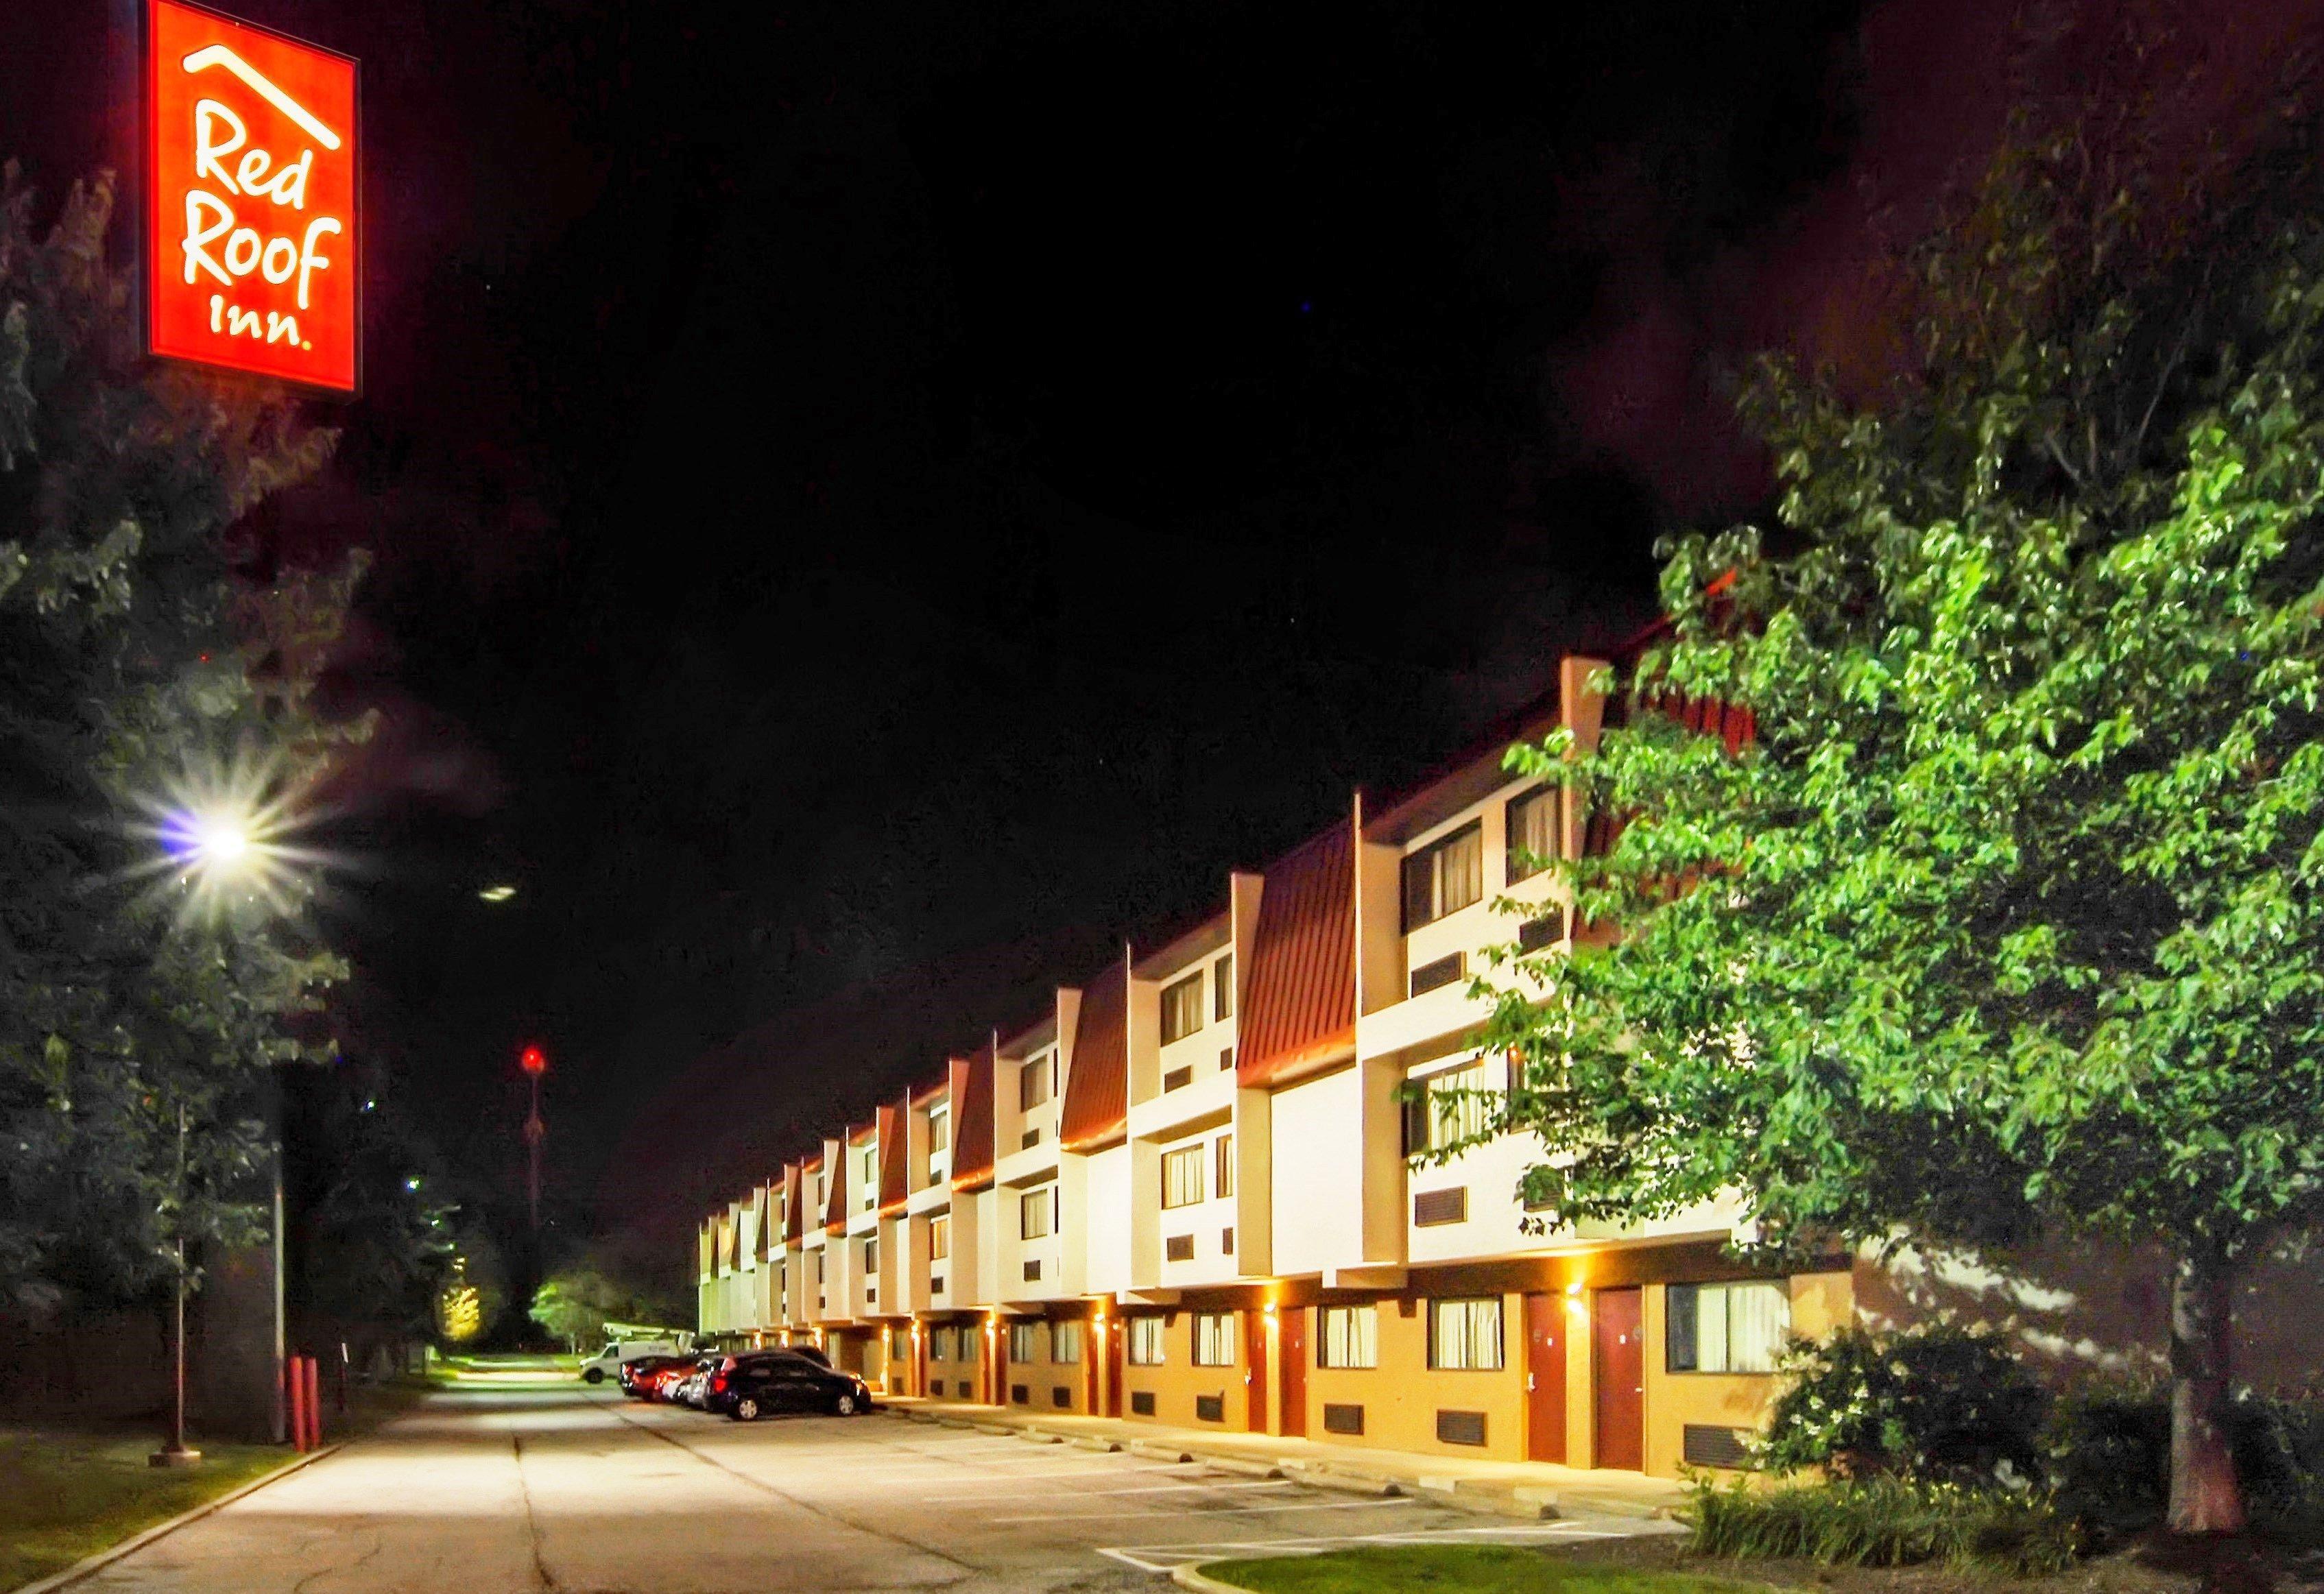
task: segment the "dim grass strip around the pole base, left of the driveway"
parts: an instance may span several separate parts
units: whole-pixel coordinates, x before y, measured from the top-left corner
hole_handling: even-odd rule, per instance
[[[209,1445],[195,1469],[146,1466],[144,1431],[0,1429],[0,1589],[46,1578],[290,1459]]]

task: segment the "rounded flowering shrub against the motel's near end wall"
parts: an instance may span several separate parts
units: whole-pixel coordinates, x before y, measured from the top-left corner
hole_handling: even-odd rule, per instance
[[[1850,1327],[1792,1341],[1757,1462],[1778,1473],[1894,1473],[1989,1482],[2033,1478],[2047,1396],[1987,1329]]]

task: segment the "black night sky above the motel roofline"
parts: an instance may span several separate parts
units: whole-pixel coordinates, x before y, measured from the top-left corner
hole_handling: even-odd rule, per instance
[[[107,9],[37,9],[53,191]],[[660,1234],[1634,630],[2022,12],[228,9],[365,72],[367,393],[260,511],[376,558],[349,1057],[490,1204],[537,1039],[567,1232]],[[2052,88],[2122,9],[2027,14]],[[2226,77],[2315,23],[2231,9]]]

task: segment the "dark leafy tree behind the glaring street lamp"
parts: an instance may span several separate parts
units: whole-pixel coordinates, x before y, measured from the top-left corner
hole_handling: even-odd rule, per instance
[[[339,964],[307,878],[205,892],[172,827],[295,813],[360,727],[311,688],[356,567],[258,579],[237,523],[332,437],[263,386],[142,360],[112,181],[53,228],[0,181],[0,1294],[123,1299],[244,1241],[253,1085]],[[284,862],[279,850],[265,860]]]

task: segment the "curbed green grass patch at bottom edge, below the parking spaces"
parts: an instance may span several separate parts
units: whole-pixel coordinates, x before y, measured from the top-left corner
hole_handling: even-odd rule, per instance
[[[1766,1594],[1766,1585],[1676,1571],[1571,1566],[1506,1545],[1390,1545],[1211,1561],[1204,1575],[1257,1594]]]

